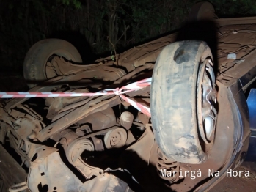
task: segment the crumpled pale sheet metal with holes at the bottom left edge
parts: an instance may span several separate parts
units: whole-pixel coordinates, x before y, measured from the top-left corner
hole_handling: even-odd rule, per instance
[[[44,149],[37,152],[37,158],[29,169],[27,182],[30,191],[128,191],[126,182],[107,173],[100,174],[84,183],[81,182],[62,162],[57,149],[51,147]]]

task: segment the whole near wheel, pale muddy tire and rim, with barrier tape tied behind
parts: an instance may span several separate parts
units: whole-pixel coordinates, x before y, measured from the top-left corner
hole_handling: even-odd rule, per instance
[[[208,159],[216,125],[211,50],[205,42],[167,45],[153,71],[151,117],[156,141],[168,158],[183,163]]]

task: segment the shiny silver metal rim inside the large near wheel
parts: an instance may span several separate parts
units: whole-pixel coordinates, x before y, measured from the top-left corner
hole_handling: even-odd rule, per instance
[[[200,136],[205,144],[210,144],[213,141],[217,117],[215,75],[211,59],[205,59],[198,80],[197,110]]]

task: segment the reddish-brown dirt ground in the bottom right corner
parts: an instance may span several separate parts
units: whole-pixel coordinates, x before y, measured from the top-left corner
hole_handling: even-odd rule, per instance
[[[256,192],[256,173],[244,166],[239,166],[236,171],[249,171],[249,177],[244,177],[244,175],[242,177],[225,177],[210,192]]]

